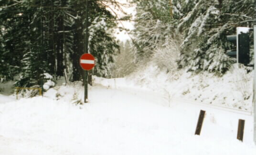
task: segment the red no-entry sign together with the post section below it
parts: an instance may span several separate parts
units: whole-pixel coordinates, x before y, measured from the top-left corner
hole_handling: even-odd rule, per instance
[[[85,79],[84,79],[84,84],[85,84],[85,103],[87,103],[88,99],[88,71],[93,69],[95,66],[95,58],[92,54],[85,53],[80,57],[80,66],[85,70]]]

